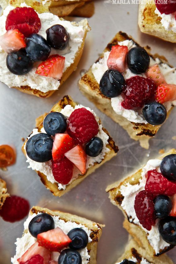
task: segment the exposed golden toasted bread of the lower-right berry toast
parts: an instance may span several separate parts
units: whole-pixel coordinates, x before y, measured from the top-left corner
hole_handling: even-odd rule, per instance
[[[176,154],[176,149],[171,149],[168,152],[164,153],[159,159],[169,155]],[[111,202],[118,206],[120,210],[124,213],[124,216],[127,218],[124,221],[124,228],[129,232],[131,236],[135,239],[135,241],[144,249],[146,249],[149,256],[159,256],[164,252],[172,249],[174,245],[167,246],[163,249],[159,250],[159,253],[156,253],[154,248],[149,243],[146,232],[137,224],[133,223],[133,220],[127,215],[126,211],[122,208],[121,204],[124,200],[124,196],[120,192],[121,186],[126,186],[127,184],[135,185],[140,183],[142,168],[140,168],[137,172],[132,175],[126,177],[124,180],[117,181],[111,185],[109,185],[106,191],[109,193],[109,198]]]

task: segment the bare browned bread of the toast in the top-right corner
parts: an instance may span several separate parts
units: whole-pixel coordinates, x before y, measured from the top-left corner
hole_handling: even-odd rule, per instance
[[[161,17],[155,14],[155,3],[139,4],[138,25],[143,33],[156,36],[166,41],[176,42],[176,33],[166,30],[161,24]]]

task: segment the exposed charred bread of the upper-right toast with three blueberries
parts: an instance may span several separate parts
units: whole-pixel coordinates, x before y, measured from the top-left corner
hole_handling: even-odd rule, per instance
[[[108,43],[107,47],[104,49],[104,52],[111,51],[112,46],[117,45],[118,41],[124,41],[124,40],[133,40],[133,39],[131,36],[128,36],[126,33],[119,31],[115,35],[115,37],[112,39],[112,41]],[[135,44],[139,46],[138,43],[135,42]],[[146,50],[149,53],[148,47],[146,47]],[[149,55],[153,58],[157,58],[155,56],[152,56],[150,53]],[[104,57],[104,54],[102,53],[102,55],[97,61],[99,61],[103,57]],[[160,60],[161,62],[164,62],[162,59]],[[113,110],[113,107],[111,106],[111,99],[107,98],[101,93],[99,89],[99,84],[96,81],[91,68],[79,80],[79,87],[80,87],[80,91],[91,102],[93,102],[98,109],[100,109],[103,113],[105,113],[107,116],[112,118],[116,123],[121,125],[127,131],[127,133],[132,139],[139,140],[140,146],[146,149],[149,148],[149,139],[156,135],[161,125],[153,126],[151,124],[133,123],[133,122],[128,121],[123,116],[115,113],[115,111]],[[167,118],[171,112],[171,109],[170,111],[168,111]]]

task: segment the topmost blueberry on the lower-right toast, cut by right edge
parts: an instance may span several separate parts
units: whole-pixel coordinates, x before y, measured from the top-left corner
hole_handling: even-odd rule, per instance
[[[162,159],[161,173],[170,181],[176,181],[176,154],[170,154]]]

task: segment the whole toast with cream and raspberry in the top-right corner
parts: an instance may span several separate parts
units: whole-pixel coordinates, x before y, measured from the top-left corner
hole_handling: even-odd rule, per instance
[[[175,3],[158,3],[157,6],[155,3],[139,4],[138,25],[141,32],[175,43],[175,11]]]

